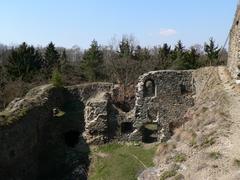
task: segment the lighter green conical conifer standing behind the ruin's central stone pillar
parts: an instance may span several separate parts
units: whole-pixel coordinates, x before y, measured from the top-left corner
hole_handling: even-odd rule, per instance
[[[84,52],[80,66],[87,80],[96,81],[104,78],[102,73],[103,52],[97,41],[93,40],[90,48]]]

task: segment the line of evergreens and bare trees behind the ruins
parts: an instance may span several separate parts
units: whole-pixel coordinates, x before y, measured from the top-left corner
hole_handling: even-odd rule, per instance
[[[125,89],[148,71],[197,69],[225,65],[226,60],[227,51],[221,50],[213,38],[203,46],[190,48],[181,41],[174,47],[167,43],[142,47],[132,37],[123,37],[115,46],[102,46],[93,40],[84,51],[78,47],[55,47],[52,42],[44,48],[25,42],[17,47],[0,45],[0,108],[13,96],[21,96],[29,88],[49,82],[52,75],[61,77],[66,85],[109,81]],[[18,94],[19,86],[23,92]]]

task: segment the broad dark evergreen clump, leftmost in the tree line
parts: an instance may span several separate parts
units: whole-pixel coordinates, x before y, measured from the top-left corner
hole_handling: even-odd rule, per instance
[[[13,79],[29,80],[41,66],[41,54],[24,42],[18,48],[12,49],[6,69]]]

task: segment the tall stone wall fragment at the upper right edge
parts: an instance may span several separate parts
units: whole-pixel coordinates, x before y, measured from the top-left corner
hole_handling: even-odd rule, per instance
[[[230,30],[228,68],[235,79],[240,79],[240,5]]]

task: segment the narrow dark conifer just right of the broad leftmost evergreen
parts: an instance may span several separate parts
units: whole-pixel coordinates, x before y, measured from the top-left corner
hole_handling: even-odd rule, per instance
[[[60,64],[60,55],[55,48],[55,45],[50,42],[46,48],[44,53],[44,60],[45,60],[45,68],[47,73],[49,74],[53,68],[59,68]]]

